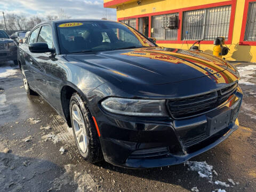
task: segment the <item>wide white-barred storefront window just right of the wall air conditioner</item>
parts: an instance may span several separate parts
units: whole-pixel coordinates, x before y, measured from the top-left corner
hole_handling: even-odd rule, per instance
[[[230,5],[184,12],[182,40],[228,39],[230,14]]]

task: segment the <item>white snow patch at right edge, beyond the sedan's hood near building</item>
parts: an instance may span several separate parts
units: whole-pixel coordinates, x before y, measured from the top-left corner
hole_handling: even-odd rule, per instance
[[[255,75],[256,73],[256,66],[250,65],[250,66],[244,66],[244,67],[236,67],[239,71],[241,79],[239,80],[239,84],[245,84],[245,85],[255,85]]]

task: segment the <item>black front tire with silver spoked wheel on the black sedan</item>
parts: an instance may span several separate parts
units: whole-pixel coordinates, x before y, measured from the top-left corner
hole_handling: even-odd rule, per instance
[[[69,112],[80,155],[90,163],[102,161],[102,150],[92,115],[86,102],[78,93],[74,93],[70,98]]]

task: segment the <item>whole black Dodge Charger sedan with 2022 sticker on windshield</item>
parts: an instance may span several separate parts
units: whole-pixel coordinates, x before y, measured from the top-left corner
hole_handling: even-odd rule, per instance
[[[143,168],[179,164],[238,127],[239,74],[213,55],[157,46],[124,23],[60,20],[19,46],[28,94],[73,128],[88,162]]]

